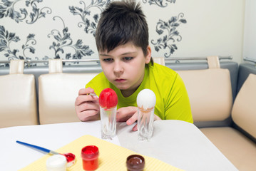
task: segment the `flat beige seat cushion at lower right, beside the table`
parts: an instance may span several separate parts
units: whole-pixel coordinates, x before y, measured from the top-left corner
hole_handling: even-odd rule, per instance
[[[255,142],[230,127],[201,128],[200,130],[238,170],[255,170]]]

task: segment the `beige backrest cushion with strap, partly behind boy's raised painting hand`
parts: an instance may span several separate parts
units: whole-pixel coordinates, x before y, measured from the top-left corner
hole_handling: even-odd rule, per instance
[[[75,111],[78,90],[98,74],[62,73],[60,65],[58,60],[49,62],[50,73],[39,76],[40,124],[79,121]]]

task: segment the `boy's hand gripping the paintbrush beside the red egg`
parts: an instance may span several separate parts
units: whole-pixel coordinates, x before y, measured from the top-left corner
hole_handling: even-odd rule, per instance
[[[81,121],[99,120],[100,106],[98,98],[89,93],[94,93],[93,88],[82,88],[79,90],[75,102],[76,115]]]

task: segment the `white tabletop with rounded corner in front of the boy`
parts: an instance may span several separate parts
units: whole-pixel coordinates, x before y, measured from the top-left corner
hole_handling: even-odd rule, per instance
[[[118,123],[118,136],[111,142],[183,170],[237,170],[193,124],[180,120],[155,121],[153,138],[145,142],[138,140],[137,132],[133,132],[132,127]],[[101,138],[100,122],[1,128],[1,170],[21,169],[45,155],[17,144],[16,140],[56,150],[83,135]]]

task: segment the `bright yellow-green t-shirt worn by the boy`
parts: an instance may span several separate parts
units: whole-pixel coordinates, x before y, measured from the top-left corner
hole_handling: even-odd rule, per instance
[[[121,90],[108,81],[104,73],[99,73],[93,78],[86,88],[93,88],[100,95],[104,88],[112,88],[118,95],[117,108],[137,106],[136,98],[140,90],[148,88],[156,96],[155,115],[162,120],[184,120],[193,123],[188,93],[178,73],[158,63],[145,66],[143,82],[128,98],[123,97]]]

